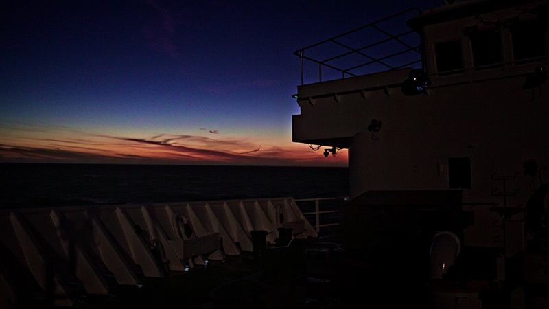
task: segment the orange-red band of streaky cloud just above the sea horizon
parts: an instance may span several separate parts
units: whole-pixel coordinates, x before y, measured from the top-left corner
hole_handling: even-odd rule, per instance
[[[159,133],[150,137],[126,137],[82,132],[73,128],[56,128],[44,136],[41,134],[14,139],[0,132],[0,139],[4,141],[0,144],[0,161],[321,165],[328,160],[321,153],[301,144],[257,146],[245,139],[231,139],[223,135],[211,138]],[[21,140],[25,143],[19,143]],[[340,152],[335,159],[329,159],[332,164],[345,165],[347,152]]]

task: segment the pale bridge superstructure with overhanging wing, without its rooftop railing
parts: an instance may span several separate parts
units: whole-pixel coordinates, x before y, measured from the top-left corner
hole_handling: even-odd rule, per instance
[[[462,191],[465,243],[504,247],[489,209],[524,207],[549,181],[547,12],[547,1],[487,0],[421,12],[408,21],[421,68],[302,84],[293,141],[348,148],[351,198]]]

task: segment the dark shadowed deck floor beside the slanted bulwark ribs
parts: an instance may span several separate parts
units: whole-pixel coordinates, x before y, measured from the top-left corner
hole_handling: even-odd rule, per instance
[[[145,277],[139,288],[120,286],[110,295],[87,295],[82,308],[388,308],[426,305],[424,267],[406,267],[406,252],[375,257],[348,252],[342,231],[309,238],[303,273],[261,280],[250,252],[207,266]],[[411,262],[408,257],[408,262]],[[423,265],[425,266],[425,265]],[[250,279],[252,278],[252,279]],[[253,279],[255,278],[255,279]],[[257,280],[256,280],[257,279]],[[237,282],[221,294],[213,290]],[[245,282],[245,284],[243,284]]]

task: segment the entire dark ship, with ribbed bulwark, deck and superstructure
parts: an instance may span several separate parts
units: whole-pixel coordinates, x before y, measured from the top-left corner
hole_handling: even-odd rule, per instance
[[[292,198],[8,209],[1,306],[549,308],[548,27],[548,1],[470,0],[295,52],[293,141],[349,149],[343,244]]]

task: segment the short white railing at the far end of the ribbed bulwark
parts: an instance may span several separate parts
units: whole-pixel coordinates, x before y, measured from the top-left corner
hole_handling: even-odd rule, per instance
[[[347,196],[344,197],[330,197],[330,198],[301,198],[294,200],[298,204],[299,208],[302,211],[303,216],[306,218],[314,215],[314,227],[316,232],[320,231],[320,227],[338,227],[341,225],[341,209],[342,205],[348,201]],[[320,211],[320,201],[323,201],[325,209]],[[314,211],[303,212],[305,209],[311,209],[314,202]],[[327,222],[325,224],[320,224],[320,215],[323,216],[323,221]],[[329,216],[329,217],[328,217]]]

